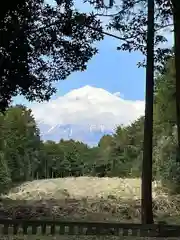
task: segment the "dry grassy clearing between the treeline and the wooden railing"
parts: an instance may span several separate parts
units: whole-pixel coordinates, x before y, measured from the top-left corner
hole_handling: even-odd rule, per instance
[[[92,177],[27,182],[2,196],[0,217],[138,223],[140,222],[140,183],[140,179]],[[180,224],[179,199],[178,196],[168,196],[160,184],[154,183],[155,221],[165,220],[167,223]],[[28,237],[28,239],[46,238]],[[9,238],[3,236],[1,239]],[[14,239],[20,240],[24,237],[18,236]],[[63,236],[61,239],[90,240],[118,239],[118,237]]]

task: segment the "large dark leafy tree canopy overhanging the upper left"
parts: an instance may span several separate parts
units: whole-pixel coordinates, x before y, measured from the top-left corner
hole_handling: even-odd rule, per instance
[[[103,38],[94,15],[79,13],[73,1],[24,0],[10,4],[0,19],[0,109],[13,96],[48,100],[52,83],[84,71]],[[12,6],[12,8],[11,8]],[[91,28],[92,27],[92,28]]]

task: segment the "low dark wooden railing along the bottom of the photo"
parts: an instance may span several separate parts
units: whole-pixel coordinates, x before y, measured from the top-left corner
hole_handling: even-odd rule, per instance
[[[180,237],[178,225],[0,219],[0,235]]]

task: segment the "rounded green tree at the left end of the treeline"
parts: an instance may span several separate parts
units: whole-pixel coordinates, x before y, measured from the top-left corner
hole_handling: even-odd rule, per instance
[[[31,111],[23,106],[9,108],[4,117],[3,134],[3,152],[11,179],[32,179],[38,161],[40,136]]]

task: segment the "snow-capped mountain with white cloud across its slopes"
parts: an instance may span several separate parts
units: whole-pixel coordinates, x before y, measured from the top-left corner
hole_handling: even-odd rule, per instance
[[[31,105],[43,140],[79,140],[96,145],[118,125],[144,114],[144,101],[125,100],[119,92],[84,86],[46,103]]]

